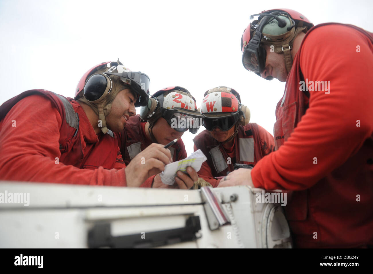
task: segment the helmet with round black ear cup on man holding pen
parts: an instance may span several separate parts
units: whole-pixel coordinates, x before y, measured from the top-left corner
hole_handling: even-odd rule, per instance
[[[90,105],[102,121],[101,131],[110,133],[105,116],[110,113],[116,95],[129,88],[136,97],[135,107],[140,107],[148,103],[149,85],[150,79],[146,74],[132,72],[119,59],[117,62],[102,62],[84,73],[76,87],[75,100]]]

